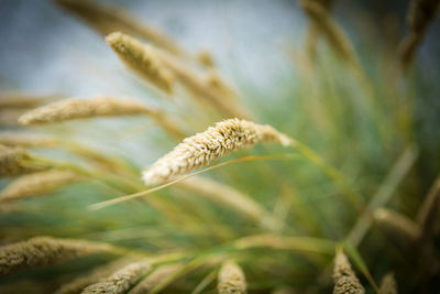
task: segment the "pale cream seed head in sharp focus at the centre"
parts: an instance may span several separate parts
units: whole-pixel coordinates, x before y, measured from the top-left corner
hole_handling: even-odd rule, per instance
[[[187,174],[234,150],[258,142],[278,142],[288,145],[290,140],[271,126],[246,120],[228,119],[209,127],[207,131],[186,138],[150,168],[143,172],[147,185],[161,184]]]

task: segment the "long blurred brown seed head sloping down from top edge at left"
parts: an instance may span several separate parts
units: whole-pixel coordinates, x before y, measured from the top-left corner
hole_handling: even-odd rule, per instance
[[[97,1],[89,0],[57,0],[57,3],[82,19],[102,35],[120,31],[146,39],[173,54],[184,54],[170,37],[156,28],[142,24],[119,7],[99,4]]]

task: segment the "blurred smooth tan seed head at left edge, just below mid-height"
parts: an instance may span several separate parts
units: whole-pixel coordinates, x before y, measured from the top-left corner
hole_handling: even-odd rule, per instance
[[[56,170],[24,175],[9,184],[0,193],[0,203],[46,194],[80,179],[77,174]]]

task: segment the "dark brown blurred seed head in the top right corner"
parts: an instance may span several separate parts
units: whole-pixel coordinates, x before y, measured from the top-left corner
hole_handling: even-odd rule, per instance
[[[439,0],[413,0],[410,2],[407,17],[409,34],[402,41],[399,48],[400,65],[404,69],[411,64],[417,47],[439,11]]]

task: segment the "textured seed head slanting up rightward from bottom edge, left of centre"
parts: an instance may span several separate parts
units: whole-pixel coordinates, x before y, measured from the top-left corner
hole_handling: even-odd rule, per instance
[[[96,284],[87,286],[81,293],[108,293],[119,294],[125,293],[136,281],[151,269],[147,260],[131,263],[123,269],[112,273],[110,276]]]

